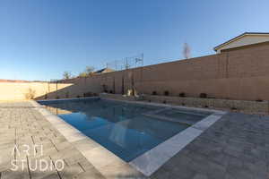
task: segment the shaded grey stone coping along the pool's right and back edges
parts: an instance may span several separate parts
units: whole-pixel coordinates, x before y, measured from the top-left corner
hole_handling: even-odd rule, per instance
[[[227,114],[227,112],[215,109],[204,109],[198,107],[180,107],[169,104],[148,103],[143,101],[124,101],[120,99],[111,99],[111,98],[103,98],[103,99],[117,100],[126,103],[141,104],[147,106],[152,105],[157,107],[189,109],[189,110],[212,113],[212,115],[204,117],[204,119],[202,119],[201,121],[191,125],[184,131],[179,132],[178,134],[169,138],[167,141],[161,142],[161,144],[146,151],[141,156],[134,158],[132,161],[129,162],[131,166],[134,166],[135,169],[142,172],[143,175],[146,176],[152,175],[170,158],[174,157],[181,149],[184,149],[187,146],[187,144],[194,141],[195,138],[201,135],[206,129],[208,129],[211,125],[213,125],[215,122],[221,119],[223,115]],[[158,158],[156,158],[156,156],[158,156]]]

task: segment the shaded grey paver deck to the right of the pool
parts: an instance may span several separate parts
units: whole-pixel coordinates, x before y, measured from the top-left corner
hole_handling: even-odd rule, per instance
[[[268,179],[269,117],[224,115],[151,178]]]

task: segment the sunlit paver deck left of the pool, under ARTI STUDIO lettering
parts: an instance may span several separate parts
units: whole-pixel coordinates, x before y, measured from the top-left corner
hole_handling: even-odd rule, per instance
[[[1,179],[105,178],[28,102],[0,103],[0,127]],[[13,152],[15,145],[18,146],[17,152]],[[23,145],[30,146],[30,156],[22,151],[25,149]],[[39,155],[41,148],[35,149],[34,145],[43,145],[42,156]],[[30,165],[31,169],[35,169],[37,158],[53,161],[52,170],[44,172],[38,167],[30,171]],[[11,170],[13,159],[17,159],[16,166],[20,166],[16,171]],[[56,170],[54,165],[57,159],[65,162],[63,171]]]

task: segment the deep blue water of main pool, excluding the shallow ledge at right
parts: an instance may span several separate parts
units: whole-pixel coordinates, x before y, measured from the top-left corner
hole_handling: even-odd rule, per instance
[[[161,107],[103,99],[39,103],[127,162],[189,126],[144,115],[160,111]],[[176,118],[184,117],[199,121],[205,115],[189,113],[180,115],[180,111],[177,111]]]

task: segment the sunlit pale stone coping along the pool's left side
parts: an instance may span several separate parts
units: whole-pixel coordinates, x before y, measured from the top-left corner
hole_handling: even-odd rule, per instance
[[[94,98],[96,97],[92,99]],[[91,140],[91,138],[84,135],[72,125],[67,124],[62,118],[49,112],[48,109],[40,105],[37,101],[30,100],[30,103],[58,132],[65,136],[67,141],[78,149],[82,155],[100,171],[101,175],[104,175],[106,178],[117,178],[118,176],[123,176],[123,174],[134,175],[136,177],[138,175],[139,178],[145,178],[140,171],[137,171],[133,166],[126,163],[126,161],[118,158],[117,155],[101,146],[98,142]]]

